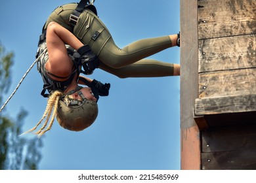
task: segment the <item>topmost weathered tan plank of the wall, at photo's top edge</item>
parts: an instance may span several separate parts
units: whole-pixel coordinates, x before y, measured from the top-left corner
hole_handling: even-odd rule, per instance
[[[255,0],[198,1],[199,39],[256,33],[255,7]]]

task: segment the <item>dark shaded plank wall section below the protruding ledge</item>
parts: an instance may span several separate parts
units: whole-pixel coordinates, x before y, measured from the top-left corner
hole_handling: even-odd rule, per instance
[[[202,131],[202,169],[256,169],[256,125]]]

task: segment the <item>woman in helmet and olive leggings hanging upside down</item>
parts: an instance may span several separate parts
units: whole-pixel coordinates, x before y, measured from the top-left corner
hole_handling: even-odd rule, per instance
[[[85,1],[87,7],[75,21],[73,13],[77,3],[56,8],[44,26],[46,39],[39,42],[38,69],[44,82],[43,93],[48,90],[50,95],[43,118],[26,133],[35,130],[46,118],[37,131],[39,136],[43,135],[51,129],[55,116],[62,127],[72,131],[81,131],[95,122],[98,95],[107,96],[110,84],[80,76],[80,73],[90,75],[99,68],[119,78],[180,75],[179,64],[145,59],[179,46],[179,34],[142,39],[119,48],[89,3]],[[50,117],[51,122],[45,129]]]

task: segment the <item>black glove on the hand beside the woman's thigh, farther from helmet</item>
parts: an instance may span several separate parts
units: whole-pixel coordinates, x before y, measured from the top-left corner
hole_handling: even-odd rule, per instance
[[[80,63],[83,66],[84,71],[81,71],[85,75],[91,75],[93,71],[98,68],[98,57],[93,54],[89,45],[81,46],[77,50],[80,54]]]

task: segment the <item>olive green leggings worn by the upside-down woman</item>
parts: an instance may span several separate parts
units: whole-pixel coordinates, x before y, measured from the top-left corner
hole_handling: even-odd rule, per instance
[[[116,46],[110,31],[91,10],[84,10],[74,30],[69,24],[70,14],[76,4],[56,8],[47,24],[57,22],[72,31],[83,44],[89,44],[100,59],[100,69],[120,78],[173,76],[173,63],[144,59],[172,46],[169,36],[142,39],[124,48]]]

